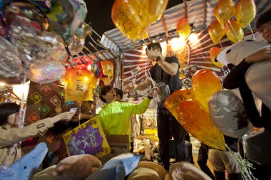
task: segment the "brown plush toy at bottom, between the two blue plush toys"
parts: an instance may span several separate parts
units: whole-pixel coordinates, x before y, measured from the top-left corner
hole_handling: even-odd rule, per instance
[[[61,160],[56,165],[53,176],[56,176],[59,180],[83,180],[100,167],[100,160],[92,155],[75,155]]]

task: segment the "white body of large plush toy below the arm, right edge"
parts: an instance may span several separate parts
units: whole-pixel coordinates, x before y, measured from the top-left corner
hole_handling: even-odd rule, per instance
[[[271,59],[253,63],[245,74],[250,90],[262,100],[271,111]]]

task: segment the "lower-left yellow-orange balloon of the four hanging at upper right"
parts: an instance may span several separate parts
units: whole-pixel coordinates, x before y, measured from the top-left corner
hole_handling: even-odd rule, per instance
[[[225,35],[223,26],[218,21],[214,21],[210,24],[208,33],[213,43],[218,43],[218,41],[220,41],[220,39]]]

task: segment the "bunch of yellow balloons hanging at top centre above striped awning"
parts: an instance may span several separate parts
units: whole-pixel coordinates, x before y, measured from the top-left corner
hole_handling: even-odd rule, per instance
[[[111,18],[131,41],[148,38],[148,28],[163,15],[168,0],[115,0]]]

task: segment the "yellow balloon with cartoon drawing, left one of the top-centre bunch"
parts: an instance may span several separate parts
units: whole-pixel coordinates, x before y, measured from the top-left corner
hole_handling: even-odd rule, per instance
[[[114,25],[131,41],[136,41],[140,29],[143,27],[136,9],[126,0],[116,0],[111,14]]]

